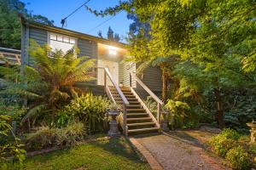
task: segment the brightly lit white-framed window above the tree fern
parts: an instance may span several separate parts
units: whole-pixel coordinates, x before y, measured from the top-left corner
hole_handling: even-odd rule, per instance
[[[49,33],[49,46],[53,50],[61,49],[63,53],[66,53],[69,49],[76,46],[76,39],[61,34]]]

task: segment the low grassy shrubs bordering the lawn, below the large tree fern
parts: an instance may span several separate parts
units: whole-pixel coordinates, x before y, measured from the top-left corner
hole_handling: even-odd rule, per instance
[[[34,133],[26,134],[28,150],[41,150],[53,146],[70,147],[84,138],[84,125],[72,122],[67,127],[39,127]]]

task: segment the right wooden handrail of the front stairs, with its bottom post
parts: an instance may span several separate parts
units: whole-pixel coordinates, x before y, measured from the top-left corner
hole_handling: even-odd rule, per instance
[[[161,117],[161,108],[164,105],[164,103],[162,102],[162,100],[159,99],[159,97],[157,97],[149,88],[148,86],[139,78],[137,77],[136,73],[131,72],[130,73],[130,86],[131,86],[131,79],[135,80],[137,82],[137,84],[139,85],[139,87],[137,87],[137,90],[141,90],[141,93],[137,93],[138,95],[140,95],[139,97],[141,99],[146,99],[146,97],[149,96],[154,99],[154,101],[157,104],[157,111],[156,111],[156,120],[157,122],[160,124],[160,117]],[[143,90],[143,92],[142,92]]]

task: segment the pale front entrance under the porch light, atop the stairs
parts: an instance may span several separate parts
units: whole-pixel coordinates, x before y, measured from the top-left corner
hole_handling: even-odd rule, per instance
[[[97,59],[98,67],[108,68],[110,74],[113,77],[113,81],[119,84],[119,63],[114,61],[109,61],[105,59]],[[97,73],[97,84],[104,85],[104,70],[99,69]],[[107,85],[113,86],[113,83],[107,78]]]

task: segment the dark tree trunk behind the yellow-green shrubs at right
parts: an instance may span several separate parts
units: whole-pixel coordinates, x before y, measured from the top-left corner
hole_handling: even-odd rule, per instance
[[[220,90],[219,88],[214,88],[213,90],[214,90],[215,101],[217,103],[217,111],[215,114],[215,118],[218,121],[218,126],[220,128],[224,128],[224,111],[223,111]]]

